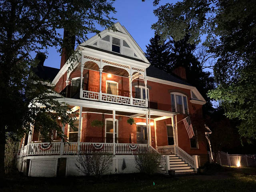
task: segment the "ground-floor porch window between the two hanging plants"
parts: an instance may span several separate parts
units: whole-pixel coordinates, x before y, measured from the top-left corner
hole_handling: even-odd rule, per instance
[[[105,137],[106,137],[106,143],[113,142],[113,120],[112,119],[106,119]],[[118,120],[115,120],[115,140],[117,143],[118,142]]]

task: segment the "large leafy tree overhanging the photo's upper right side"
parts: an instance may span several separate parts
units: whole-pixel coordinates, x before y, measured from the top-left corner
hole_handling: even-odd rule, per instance
[[[159,1],[154,1],[157,4]],[[154,10],[152,25],[161,40],[181,40],[203,45],[214,54],[218,87],[209,93],[224,107],[227,117],[241,120],[240,136],[256,139],[256,7],[254,0],[184,0]],[[253,72],[253,73],[252,73]]]

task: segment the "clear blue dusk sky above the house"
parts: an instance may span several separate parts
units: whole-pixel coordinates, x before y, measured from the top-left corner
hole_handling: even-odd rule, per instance
[[[175,3],[177,1],[161,0],[159,5],[166,4],[167,2]],[[120,22],[130,32],[138,45],[146,52],[146,45],[148,45],[150,38],[154,36],[151,25],[157,22],[153,10],[158,6],[153,6],[153,0],[146,0],[146,2],[141,0],[116,0],[113,6],[117,11],[114,14],[114,18],[117,19],[116,21]],[[99,28],[99,30],[102,29]],[[56,48],[49,48],[48,53],[48,58],[45,60],[44,65],[60,68],[60,54]]]

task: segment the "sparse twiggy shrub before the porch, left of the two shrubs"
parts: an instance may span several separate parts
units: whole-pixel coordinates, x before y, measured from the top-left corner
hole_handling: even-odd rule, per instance
[[[114,154],[91,152],[78,154],[78,163],[76,166],[86,176],[95,175],[100,178],[103,174],[108,173],[108,168],[113,163]]]

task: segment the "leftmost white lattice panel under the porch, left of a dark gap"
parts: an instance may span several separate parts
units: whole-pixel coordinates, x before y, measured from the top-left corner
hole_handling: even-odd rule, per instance
[[[54,177],[56,176],[58,159],[53,160],[31,160],[30,176],[32,177]]]

